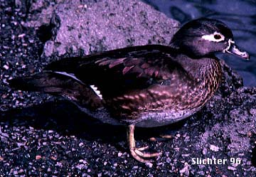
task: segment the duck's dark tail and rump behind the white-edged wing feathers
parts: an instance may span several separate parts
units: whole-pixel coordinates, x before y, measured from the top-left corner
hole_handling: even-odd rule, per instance
[[[42,72],[9,80],[9,85],[16,90],[63,95],[82,107],[91,109],[102,107],[101,98],[95,94],[92,88],[68,73]]]

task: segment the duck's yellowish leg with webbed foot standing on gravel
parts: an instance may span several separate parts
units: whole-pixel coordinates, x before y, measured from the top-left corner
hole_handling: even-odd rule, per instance
[[[135,140],[134,140],[134,125],[129,125],[127,129],[127,138],[128,138],[128,143],[129,143],[129,150],[131,151],[132,156],[134,159],[137,161],[140,161],[142,163],[149,162],[150,160],[146,160],[144,158],[151,158],[154,156],[161,156],[161,153],[154,153],[154,154],[149,154],[149,153],[144,153],[145,149],[148,149],[148,146],[142,147],[142,148],[136,148],[135,146]]]

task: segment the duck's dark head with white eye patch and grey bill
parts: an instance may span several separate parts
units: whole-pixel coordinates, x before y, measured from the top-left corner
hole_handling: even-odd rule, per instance
[[[170,45],[194,58],[215,52],[231,53],[249,59],[247,52],[235,45],[233,33],[223,22],[198,18],[189,21],[174,35]]]

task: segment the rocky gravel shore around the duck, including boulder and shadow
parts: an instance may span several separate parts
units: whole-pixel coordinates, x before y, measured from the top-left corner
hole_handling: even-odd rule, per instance
[[[78,11],[80,5],[85,9]],[[59,97],[13,91],[6,82],[63,55],[166,44],[176,21],[140,1],[1,0],[0,13],[0,176],[256,175],[256,88],[243,87],[223,61],[223,83],[200,112],[166,127],[136,129],[137,146],[163,152],[146,164],[129,155],[125,127],[102,124]],[[105,35],[95,36],[99,33]],[[80,39],[68,40],[79,34]],[[198,165],[192,158],[228,163]],[[240,161],[232,164],[232,158]]]

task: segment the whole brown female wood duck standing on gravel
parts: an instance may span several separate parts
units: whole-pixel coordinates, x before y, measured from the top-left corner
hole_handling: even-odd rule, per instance
[[[249,59],[224,23],[199,18],[186,23],[168,46],[144,45],[50,63],[41,73],[9,80],[19,90],[72,100],[110,124],[127,125],[129,150],[146,162],[160,153],[137,148],[134,127],[159,127],[191,116],[213,97],[222,75],[215,52]]]

